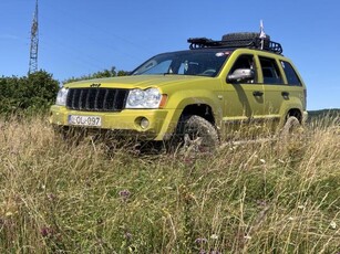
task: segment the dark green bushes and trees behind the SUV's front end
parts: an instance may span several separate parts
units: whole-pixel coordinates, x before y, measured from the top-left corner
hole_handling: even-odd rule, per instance
[[[71,77],[62,83],[80,80],[124,76],[128,73],[115,67],[81,77]],[[37,115],[44,114],[54,104],[60,82],[51,73],[39,71],[28,76],[0,77],[0,115]]]

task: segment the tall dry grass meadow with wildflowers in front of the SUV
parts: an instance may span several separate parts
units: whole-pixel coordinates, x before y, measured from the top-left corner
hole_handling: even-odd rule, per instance
[[[339,118],[195,157],[0,129],[1,253],[340,252]]]

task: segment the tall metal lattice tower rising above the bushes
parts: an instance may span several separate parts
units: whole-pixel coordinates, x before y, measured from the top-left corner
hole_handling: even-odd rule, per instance
[[[38,44],[39,44],[39,25],[38,25],[38,0],[35,1],[35,11],[31,27],[31,46],[29,74],[38,71]]]

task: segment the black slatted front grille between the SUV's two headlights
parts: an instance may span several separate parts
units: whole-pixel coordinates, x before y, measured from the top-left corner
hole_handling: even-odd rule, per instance
[[[86,112],[120,112],[123,109],[127,89],[70,88],[66,107]]]

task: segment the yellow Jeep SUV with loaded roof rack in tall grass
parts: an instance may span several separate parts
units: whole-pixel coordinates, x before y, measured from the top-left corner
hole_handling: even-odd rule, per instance
[[[258,33],[188,42],[128,76],[65,84],[51,124],[210,149],[240,123],[289,129],[307,118],[306,86],[279,43]]]

